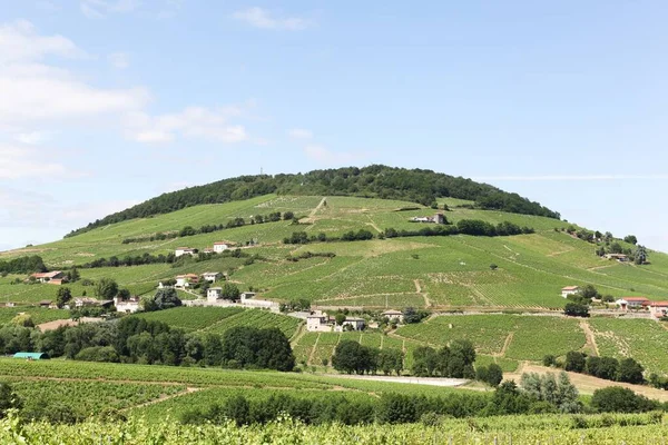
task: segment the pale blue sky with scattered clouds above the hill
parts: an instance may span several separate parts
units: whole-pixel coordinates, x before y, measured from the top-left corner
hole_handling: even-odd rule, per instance
[[[666,1],[0,2],[0,250],[193,185],[384,164],[668,251]]]

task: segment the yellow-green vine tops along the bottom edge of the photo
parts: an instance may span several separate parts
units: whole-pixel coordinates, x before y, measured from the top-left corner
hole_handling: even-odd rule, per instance
[[[501,421],[502,422],[502,421]],[[264,426],[183,426],[167,416],[163,422],[87,422],[75,426],[20,424],[10,415],[0,421],[0,443],[43,445],[88,444],[665,444],[667,425],[612,426],[595,429],[481,431],[465,423],[442,426],[371,425],[363,427],[304,426],[289,419]]]

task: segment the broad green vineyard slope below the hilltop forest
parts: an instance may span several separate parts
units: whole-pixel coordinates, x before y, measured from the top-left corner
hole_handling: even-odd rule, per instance
[[[668,299],[668,256],[649,251],[650,264],[642,266],[602,259],[595,255],[593,244],[563,231],[570,226],[564,221],[472,209],[465,206],[465,201],[442,198],[439,204],[441,207],[449,204],[450,211],[445,211],[445,217],[454,225],[462,219],[480,219],[494,225],[510,221],[530,227],[534,233],[499,237],[458,235],[380,239],[387,228],[416,230],[428,227],[410,222],[410,218],[430,216],[435,210],[406,201],[323,198],[266,195],[245,201],[189,207],[96,228],[47,245],[12,250],[0,258],[39,255],[50,269],[67,269],[100,258],[122,259],[145,254],[168,256],[178,246],[202,250],[217,240],[238,246],[254,240],[255,246],[240,250],[242,257],[216,256],[199,263],[79,270],[82,278],[91,280],[114,277],[119,285],[136,294],[151,291],[159,280],[179,274],[227,271],[239,287],[259,288],[265,298],[306,298],[322,306],[561,308],[561,287],[586,284],[593,284],[601,294],[613,297],[644,295],[650,299]],[[465,207],[456,207],[462,204]],[[397,211],[416,207],[420,209]],[[179,231],[184,226],[198,228],[235,218],[248,221],[254,215],[273,211],[292,211],[302,224],[294,225],[291,220],[246,224],[166,240],[122,243],[127,238],[148,239],[156,233]],[[304,231],[308,236],[325,234],[327,237],[341,237],[360,229],[375,234],[376,238],[367,241],[283,244],[283,239],[295,231]],[[307,251],[333,253],[335,256],[314,256],[298,261],[286,259]],[[255,259],[249,261],[252,256]],[[491,264],[498,268],[491,270]],[[24,274],[10,274],[0,278],[0,301],[33,303],[56,296],[56,286],[12,284],[24,277]],[[85,290],[90,293],[91,289],[81,283],[70,285],[73,295],[81,295]]]

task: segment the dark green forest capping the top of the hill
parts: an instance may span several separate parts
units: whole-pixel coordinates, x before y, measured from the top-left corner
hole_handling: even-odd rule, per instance
[[[67,236],[71,237],[109,224],[167,214],[200,204],[245,200],[268,194],[357,196],[409,200],[424,206],[431,206],[436,198],[452,197],[473,200],[474,206],[481,209],[560,218],[558,212],[539,202],[487,184],[431,170],[409,170],[375,165],[364,168],[314,170],[297,175],[242,176],[189,187],[163,194],[126,210],[108,215],[86,227],[72,230]]]

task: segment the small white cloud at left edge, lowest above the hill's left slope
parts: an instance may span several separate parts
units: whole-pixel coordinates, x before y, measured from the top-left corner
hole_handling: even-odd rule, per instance
[[[45,178],[65,174],[62,164],[55,162],[33,149],[0,146],[0,179]]]

